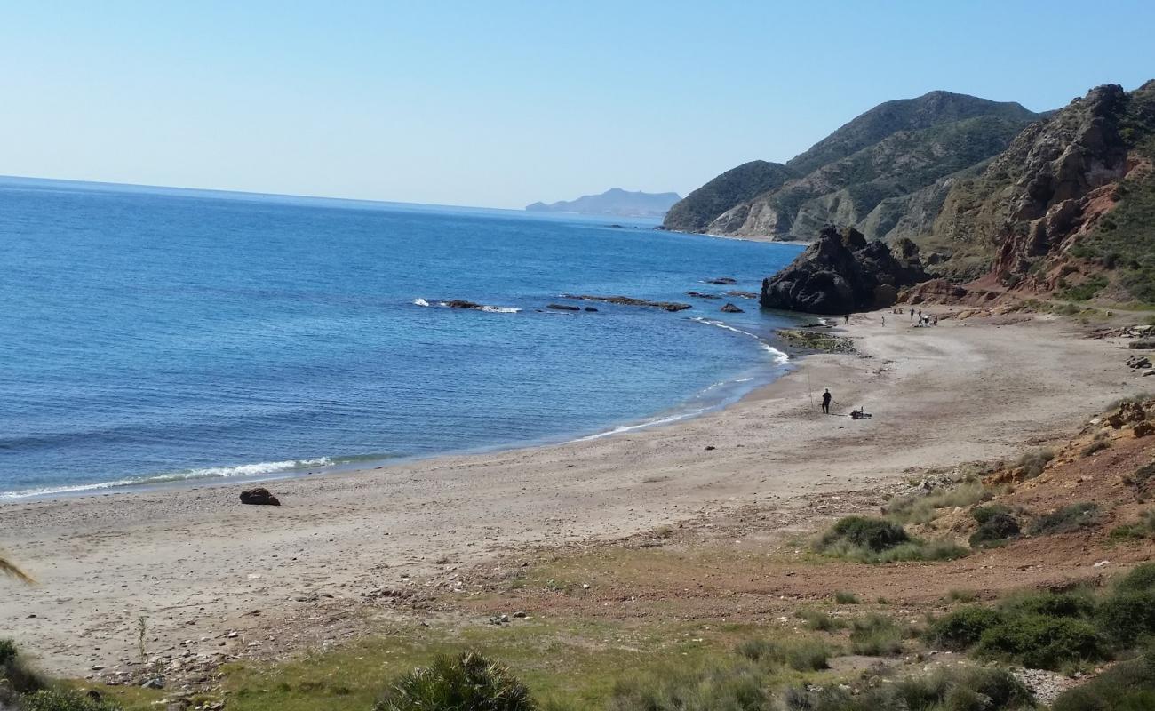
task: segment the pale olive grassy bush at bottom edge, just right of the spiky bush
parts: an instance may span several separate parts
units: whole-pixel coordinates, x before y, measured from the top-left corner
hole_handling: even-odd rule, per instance
[[[424,711],[440,711],[441,708]],[[770,711],[766,672],[739,659],[702,669],[671,668],[619,681],[609,711]]]

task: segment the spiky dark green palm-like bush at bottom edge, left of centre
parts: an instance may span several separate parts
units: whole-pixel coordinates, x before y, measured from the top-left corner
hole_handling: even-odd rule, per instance
[[[526,688],[504,666],[475,652],[438,657],[389,686],[374,711],[531,711]],[[39,711],[39,710],[36,710]],[[47,710],[44,710],[47,711]]]

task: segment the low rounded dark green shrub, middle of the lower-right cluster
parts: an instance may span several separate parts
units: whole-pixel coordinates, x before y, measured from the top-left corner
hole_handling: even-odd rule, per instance
[[[1098,632],[1086,620],[1038,614],[1005,615],[1001,624],[983,631],[975,653],[1040,669],[1106,658]]]

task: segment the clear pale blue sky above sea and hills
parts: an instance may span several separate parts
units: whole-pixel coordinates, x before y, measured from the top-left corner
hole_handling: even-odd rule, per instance
[[[491,207],[686,194],[892,98],[1133,89],[1153,28],[1152,0],[0,0],[0,175]]]

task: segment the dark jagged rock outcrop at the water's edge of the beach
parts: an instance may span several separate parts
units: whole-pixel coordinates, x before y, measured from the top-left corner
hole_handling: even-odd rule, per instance
[[[828,314],[889,306],[899,289],[925,279],[918,247],[908,243],[892,252],[854,228],[827,227],[790,266],[762,281],[759,302],[768,309]]]

